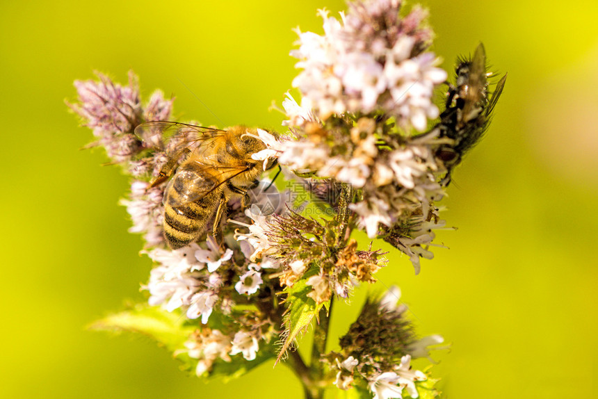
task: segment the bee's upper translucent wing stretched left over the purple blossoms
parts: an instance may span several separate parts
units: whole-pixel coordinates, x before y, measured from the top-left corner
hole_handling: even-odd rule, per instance
[[[145,122],[135,128],[135,134],[150,148],[164,149],[165,143],[177,140],[179,148],[188,147],[191,143],[213,140],[225,133],[222,129],[195,126],[181,122],[154,121]]]

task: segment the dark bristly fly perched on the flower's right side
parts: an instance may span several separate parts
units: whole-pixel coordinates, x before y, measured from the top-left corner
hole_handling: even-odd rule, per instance
[[[483,44],[476,48],[470,59],[461,58],[455,67],[455,86],[449,84],[446,108],[440,122],[428,133],[437,138],[448,138],[450,143],[439,145],[436,158],[444,163],[446,174],[440,181],[444,187],[451,182],[451,172],[464,154],[474,147],[490,125],[492,110],[503,92],[507,75],[496,84],[492,96],[488,92],[486,53]]]

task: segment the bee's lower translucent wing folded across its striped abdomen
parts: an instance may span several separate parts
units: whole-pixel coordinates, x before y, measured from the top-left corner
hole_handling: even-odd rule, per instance
[[[196,161],[197,162],[197,161]],[[197,162],[199,163],[199,162]],[[183,206],[209,195],[230,179],[248,170],[245,165],[224,166],[199,163],[199,167],[179,170],[168,182],[164,202],[173,207]]]

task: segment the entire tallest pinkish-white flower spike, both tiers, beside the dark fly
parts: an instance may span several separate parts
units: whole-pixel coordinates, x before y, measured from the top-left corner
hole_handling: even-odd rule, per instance
[[[433,33],[421,8],[401,17],[398,0],[349,7],[341,21],[320,12],[324,35],[299,32],[292,55],[302,68],[293,81],[301,104],[289,94],[282,103],[296,140],[268,147],[298,174],[359,189],[350,209],[360,227],[369,238],[388,238],[419,271],[419,259],[433,257],[433,229],[444,227],[430,213],[444,196],[438,181],[446,168],[437,159],[439,131],[405,133],[426,130],[439,115],[433,92],[447,74],[426,51]]]

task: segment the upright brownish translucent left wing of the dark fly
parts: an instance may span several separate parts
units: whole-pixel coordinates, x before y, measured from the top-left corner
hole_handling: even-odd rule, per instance
[[[484,45],[480,43],[469,66],[467,95],[462,111],[465,122],[478,117],[480,106],[485,105],[480,101],[486,101],[486,84],[486,51]]]

